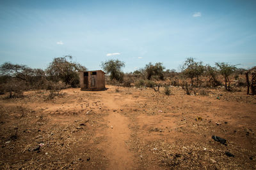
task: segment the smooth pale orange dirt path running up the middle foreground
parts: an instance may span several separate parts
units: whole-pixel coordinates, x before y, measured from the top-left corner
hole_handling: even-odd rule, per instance
[[[104,136],[108,138],[106,146],[106,157],[109,159],[108,169],[134,169],[132,152],[129,151],[127,143],[131,136],[128,127],[129,119],[120,113],[120,105],[118,104],[118,96],[114,94],[106,94],[102,96],[105,106],[109,109],[108,129]]]

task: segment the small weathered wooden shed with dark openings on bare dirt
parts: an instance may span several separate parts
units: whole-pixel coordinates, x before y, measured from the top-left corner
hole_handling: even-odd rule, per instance
[[[81,90],[104,90],[105,73],[102,70],[79,72]]]

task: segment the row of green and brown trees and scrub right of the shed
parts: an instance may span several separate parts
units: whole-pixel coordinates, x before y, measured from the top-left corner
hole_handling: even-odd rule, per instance
[[[237,68],[237,65],[228,64],[227,62],[216,62],[215,66],[210,66],[209,64],[203,64],[202,61],[196,61],[195,58],[189,57],[181,66],[180,73],[177,73],[175,69],[166,69],[163,66],[163,63],[157,62],[152,64],[151,62],[146,64],[145,67],[134,71],[133,73],[124,74],[122,72],[122,67],[124,67],[124,62],[120,60],[108,60],[102,62],[102,68],[104,71],[110,74],[111,81],[118,81],[119,83],[124,83],[125,86],[130,86],[130,83],[134,83],[132,77],[135,77],[140,85],[146,85],[150,80],[164,80],[164,78],[179,78],[179,79],[189,79],[190,86],[200,87],[202,85],[201,77],[207,78],[207,86],[217,87],[221,85],[221,81],[217,79],[218,75],[221,75],[225,80],[225,89],[230,90],[230,75],[236,73],[242,74],[246,69]],[[126,78],[125,78],[126,77]],[[143,81],[146,80],[146,81]],[[144,83],[143,83],[144,82]],[[135,82],[136,83],[136,82]],[[150,82],[151,84],[154,82]],[[148,86],[153,86],[153,85]],[[205,83],[205,82],[204,82]],[[173,81],[173,85],[177,85],[177,82]]]

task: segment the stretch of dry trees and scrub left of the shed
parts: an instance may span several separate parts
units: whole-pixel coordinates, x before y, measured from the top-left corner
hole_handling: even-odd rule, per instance
[[[0,92],[17,97],[24,90],[51,90],[53,96],[61,89],[78,87],[78,71],[86,71],[86,67],[72,61],[70,55],[54,58],[45,70],[5,62],[0,66]]]

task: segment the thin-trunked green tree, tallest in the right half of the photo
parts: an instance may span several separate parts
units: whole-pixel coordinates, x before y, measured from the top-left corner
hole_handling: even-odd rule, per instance
[[[186,59],[182,66],[182,72],[187,78],[190,78],[191,85],[193,85],[193,79],[196,78],[199,86],[199,77],[204,73],[202,61],[196,62],[192,57]]]

